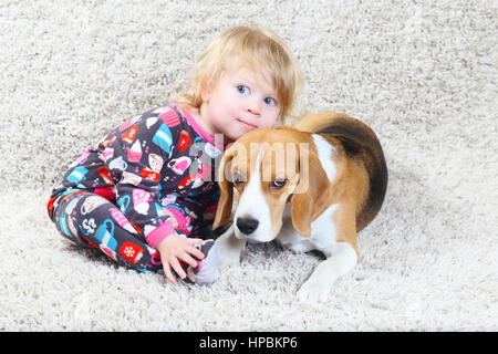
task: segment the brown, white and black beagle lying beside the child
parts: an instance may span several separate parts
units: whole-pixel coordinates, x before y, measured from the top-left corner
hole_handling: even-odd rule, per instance
[[[225,153],[218,183],[214,228],[226,229],[216,240],[218,269],[239,262],[248,240],[318,250],[326,260],[298,291],[299,300],[318,302],[356,264],[356,232],[381,209],[387,167],[367,125],[321,112],[292,127],[241,136]],[[234,189],[238,204],[230,226]]]

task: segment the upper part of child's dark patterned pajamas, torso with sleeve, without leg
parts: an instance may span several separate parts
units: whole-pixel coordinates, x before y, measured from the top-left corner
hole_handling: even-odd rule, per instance
[[[83,189],[114,201],[151,247],[170,233],[206,238],[222,149],[178,104],[148,111],[71,165],[52,191],[49,215],[59,197]]]

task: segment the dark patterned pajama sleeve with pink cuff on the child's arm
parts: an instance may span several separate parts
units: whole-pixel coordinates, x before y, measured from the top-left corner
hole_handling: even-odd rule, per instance
[[[175,215],[160,205],[167,191],[160,190],[159,179],[179,135],[165,121],[160,114],[144,114],[135,122],[132,118],[116,129],[103,152],[110,156],[105,159],[106,168],[118,176],[117,205],[153,248],[178,227]]]

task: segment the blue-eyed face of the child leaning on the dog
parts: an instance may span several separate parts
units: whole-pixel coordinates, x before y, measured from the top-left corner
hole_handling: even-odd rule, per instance
[[[210,133],[236,140],[249,131],[272,128],[280,103],[271,80],[266,77],[239,66],[225,72],[215,86],[205,87],[200,115]]]

